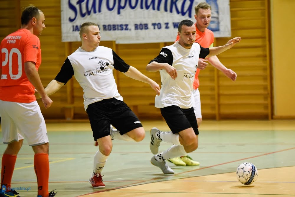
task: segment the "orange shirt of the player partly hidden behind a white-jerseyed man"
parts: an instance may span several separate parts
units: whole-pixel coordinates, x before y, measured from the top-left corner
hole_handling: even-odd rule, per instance
[[[195,24],[195,26],[196,26],[196,24]],[[175,42],[178,40],[179,40],[179,36],[177,35]],[[204,32],[200,32],[200,30],[196,26],[196,41],[195,42],[198,42],[204,48],[208,48],[214,42],[214,34],[211,30],[209,30],[207,28],[205,29]],[[193,83],[193,87],[195,90],[197,88],[199,88],[199,85],[200,85],[199,78],[198,78],[199,73],[200,73],[200,69],[197,68],[194,83]]]

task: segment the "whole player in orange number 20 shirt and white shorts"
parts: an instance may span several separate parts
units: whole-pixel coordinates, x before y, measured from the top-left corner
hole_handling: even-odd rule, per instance
[[[0,45],[0,116],[2,140],[7,145],[2,156],[0,197],[19,196],[11,188],[11,180],[24,138],[35,152],[37,197],[53,197],[55,193],[48,192],[47,130],[34,95],[36,88],[45,108],[51,106],[52,100],[45,93],[38,74],[41,49],[37,36],[45,29],[45,17],[40,9],[30,5],[22,12],[21,20],[21,29],[6,36]]]

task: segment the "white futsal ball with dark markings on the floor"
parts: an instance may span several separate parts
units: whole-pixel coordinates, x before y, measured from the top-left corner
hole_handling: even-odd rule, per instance
[[[236,172],[237,179],[244,185],[250,185],[258,178],[258,170],[252,163],[242,163]]]

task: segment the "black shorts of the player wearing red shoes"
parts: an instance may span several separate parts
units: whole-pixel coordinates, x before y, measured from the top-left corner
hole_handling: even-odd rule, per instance
[[[142,127],[141,122],[124,101],[116,98],[104,99],[90,104],[88,114],[94,141],[110,135],[112,124],[123,135],[133,129]]]

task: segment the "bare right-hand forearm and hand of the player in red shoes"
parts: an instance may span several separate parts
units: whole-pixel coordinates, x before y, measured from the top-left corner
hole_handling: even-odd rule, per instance
[[[144,83],[150,84],[150,86],[153,88],[153,90],[156,91],[157,95],[160,95],[160,86],[158,83],[153,81],[152,79],[148,78],[144,74],[142,74],[139,70],[134,68],[133,66],[130,66],[128,71],[124,73],[127,77],[130,77],[132,79],[142,81]]]

